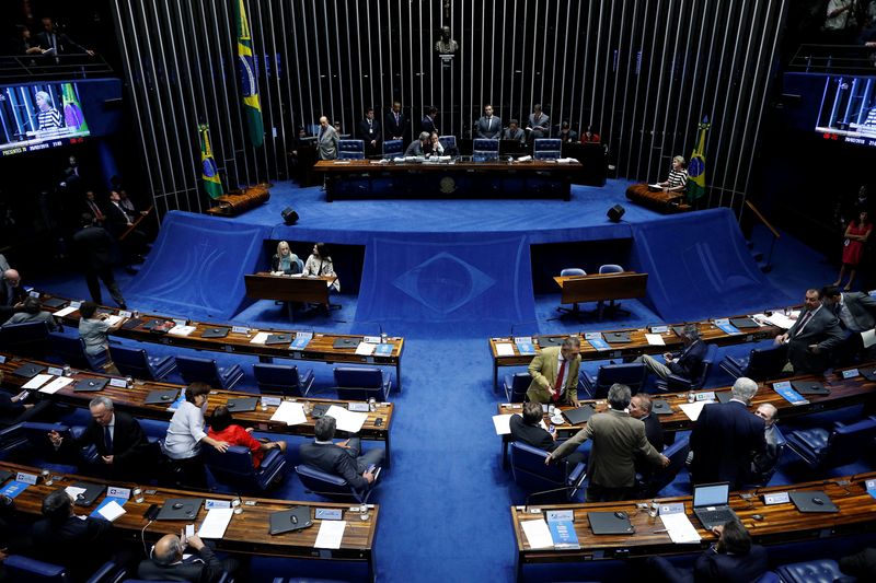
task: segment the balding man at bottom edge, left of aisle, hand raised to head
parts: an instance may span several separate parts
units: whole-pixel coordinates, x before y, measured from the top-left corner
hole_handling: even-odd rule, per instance
[[[189,557],[183,556],[185,550],[189,550]],[[197,535],[182,535],[182,538],[164,535],[152,548],[151,558],[140,562],[137,576],[146,581],[212,583],[224,572],[233,574],[238,568],[234,559],[219,560]]]

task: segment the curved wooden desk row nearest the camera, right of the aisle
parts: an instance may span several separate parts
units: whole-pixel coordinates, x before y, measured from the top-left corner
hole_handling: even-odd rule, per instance
[[[845,478],[831,478],[822,481],[812,481],[791,486],[759,488],[752,492],[730,494],[730,508],[739,516],[741,523],[748,528],[751,538],[759,545],[780,545],[792,541],[811,540],[829,536],[840,536],[862,532],[876,530],[876,500],[871,497],[864,481],[876,478],[876,473],[862,474]],[[766,506],[759,494],[765,492],[784,492],[792,490],[822,490],[840,509],[834,514],[803,514],[796,506],[788,502]],[[752,494],[752,495],[749,495]],[[595,504],[546,504],[539,506],[511,506],[511,525],[517,541],[517,576],[520,579],[525,564],[550,562],[579,562],[600,559],[626,559],[650,555],[682,555],[696,552],[717,540],[711,532],[701,527],[700,521],[693,515],[691,497],[661,498],[660,503],[682,502],[684,510],[698,527],[702,541],[689,545],[675,545],[662,529],[659,517],[652,518],[647,511],[639,510],[637,503],[650,500],[631,500],[624,502],[595,503]],[[538,513],[527,511],[538,510]],[[580,549],[555,550],[532,549],[527,541],[522,521],[542,518],[546,510],[572,510],[575,513],[575,533],[578,537]],[[593,535],[587,521],[587,512],[626,512],[635,527],[634,535]],[[754,521],[751,516],[761,514],[763,521]]]

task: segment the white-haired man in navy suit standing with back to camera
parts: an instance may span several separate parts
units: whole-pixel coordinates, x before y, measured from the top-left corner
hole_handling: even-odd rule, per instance
[[[730,482],[738,490],[749,480],[751,459],[764,448],[763,419],[748,410],[758,384],[740,376],[727,403],[703,407],[691,431],[693,483]]]

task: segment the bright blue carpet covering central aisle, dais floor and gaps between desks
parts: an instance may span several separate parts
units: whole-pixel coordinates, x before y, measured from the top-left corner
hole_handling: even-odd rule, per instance
[[[318,189],[297,189],[279,185],[273,189],[269,205],[256,209],[241,221],[273,226],[272,236],[297,241],[313,241],[315,235],[334,232],[336,242],[366,243],[373,233],[394,232],[407,236],[420,233],[468,233],[485,231],[526,231],[530,241],[556,242],[584,238],[612,238],[622,231],[630,236],[631,225],[603,225],[604,210],[623,201],[623,183],[612,183],[604,189],[576,187],[573,201],[344,201],[325,203]],[[277,225],[276,218],[285,206],[293,206],[301,214],[299,226]],[[625,205],[624,217],[631,223],[664,221],[650,211]],[[488,209],[488,211],[486,211]],[[549,224],[532,225],[533,217],[544,213],[562,214],[568,230],[552,230]],[[690,217],[696,221],[695,215]],[[224,222],[224,221],[222,221]],[[538,232],[530,230],[537,229]],[[293,234],[295,236],[290,236]],[[393,236],[395,236],[393,235]],[[452,237],[448,237],[452,238]],[[756,232],[758,246],[765,250],[763,233]],[[180,249],[183,252],[183,249]],[[152,258],[150,258],[152,260]],[[367,259],[369,261],[371,259]],[[805,246],[783,237],[774,255],[775,269],[766,277],[776,305],[802,298],[809,285],[832,281],[833,269],[822,258]],[[148,264],[147,264],[148,267]],[[158,266],[154,267],[158,269]],[[123,291],[129,289],[130,278],[119,275]],[[78,277],[59,275],[28,281],[50,291],[82,298],[84,282]],[[221,282],[212,282],[220,284]],[[141,287],[142,289],[142,287]],[[141,311],[159,310],[171,298],[155,298],[154,302],[138,298],[134,305]],[[233,300],[233,299],[232,299]],[[281,306],[273,302],[243,304],[241,311],[228,318],[232,323],[252,326],[313,327],[322,330],[376,331],[376,323],[357,316],[361,299],[342,295],[344,308],[328,316],[307,317],[295,325],[286,319]],[[369,301],[373,301],[369,300]],[[522,502],[523,493],[511,483],[509,475],[500,468],[499,438],[495,435],[491,416],[496,403],[504,400],[493,392],[492,363],[487,336],[506,335],[514,327],[516,334],[569,333],[581,329],[632,327],[659,322],[658,313],[643,302],[624,302],[632,315],[602,323],[578,324],[550,319],[556,315],[556,294],[530,298],[532,318],[527,322],[500,323],[469,314],[465,319],[448,318],[439,322],[417,317],[397,318],[388,327],[391,334],[405,336],[403,358],[404,393],[393,395],[396,416],[393,420],[393,465],[384,475],[373,500],[381,504],[381,517],[376,539],[378,579],[380,581],[511,581],[514,579],[515,541],[510,528],[508,506]],[[590,307],[590,306],[588,306]],[[708,312],[711,298],[703,295],[700,310]],[[744,310],[740,307],[740,311]],[[345,320],[345,322],[337,322]],[[159,345],[146,347],[150,353],[160,354],[169,349]],[[751,347],[736,347],[723,352],[744,353]],[[239,385],[253,390],[251,364],[255,359],[215,353],[220,363],[238,362],[244,365],[246,376]],[[595,371],[598,363],[587,363]],[[315,386],[322,394],[332,386],[332,366],[316,363]],[[180,382],[178,378],[171,378]],[[730,378],[716,371],[710,386],[722,386]],[[851,419],[860,415],[858,408],[834,413],[811,416],[791,427],[829,424],[834,419]],[[77,413],[84,418],[84,413]],[[163,424],[147,423],[149,432],[159,434]],[[289,439],[290,460],[296,462],[297,439]],[[366,444],[367,446],[369,444]],[[850,474],[869,469],[865,463],[838,468],[835,474]],[[786,455],[774,483],[798,481],[807,478]],[[687,493],[687,476],[681,475],[665,494]],[[310,500],[295,477],[288,477],[273,495],[289,500]],[[823,550],[823,549],[822,549]],[[826,550],[825,550],[826,551]],[[783,551],[784,552],[784,551]],[[826,551],[827,552],[827,551]],[[793,547],[785,555],[794,556]],[[800,555],[802,557],[803,555]],[[596,564],[570,564],[533,568],[529,580],[603,580],[621,581],[633,576],[633,568],[610,561]],[[288,561],[255,559],[253,580],[270,581],[279,575],[322,575],[342,580],[360,580],[365,571],[359,568],[331,564],[325,561]]]

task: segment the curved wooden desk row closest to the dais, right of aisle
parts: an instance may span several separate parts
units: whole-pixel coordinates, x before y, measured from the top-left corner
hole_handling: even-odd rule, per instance
[[[730,316],[730,318],[745,318],[748,317],[746,315],[739,316]],[[690,324],[690,323],[689,323]],[[784,330],[779,328],[777,326],[760,326],[758,328],[749,328],[745,330],[740,330],[741,334],[727,334],[717,326],[715,326],[714,322],[711,319],[702,320],[695,323],[700,327],[700,337],[710,343],[714,343],[717,346],[733,346],[733,345],[741,345],[746,342],[753,342],[756,340],[764,340],[766,338],[774,338],[775,336],[783,334]],[[672,352],[676,350],[680,350],[683,346],[681,338],[672,331],[673,327],[681,327],[683,324],[672,324],[668,325],[669,331],[666,331],[660,335],[664,339],[665,346],[655,346],[649,345],[648,340],[645,338],[646,334],[649,334],[647,328],[624,328],[618,330],[599,330],[600,334],[607,333],[629,333],[630,334],[630,342],[623,343],[611,343],[610,350],[597,350],[585,339],[585,333],[580,333],[578,336],[581,340],[581,360],[609,360],[609,359],[623,359],[623,358],[633,358],[633,357],[641,357],[642,354],[662,354],[664,352]],[[595,330],[596,331],[596,330]],[[560,343],[569,335],[567,334],[555,334],[555,335],[542,335],[542,336],[531,336],[528,338],[532,339],[532,346],[538,353],[541,350],[541,346],[555,346],[554,343]],[[554,342],[548,343],[545,342]],[[510,345],[511,354],[500,354],[499,350],[497,349],[496,345]],[[507,347],[506,347],[507,348]],[[515,343],[514,337],[494,337],[489,339],[489,352],[493,355],[493,388],[498,389],[498,375],[499,375],[499,366],[526,366],[528,365],[533,358],[533,354],[521,354],[520,350],[518,350],[517,345]]]

